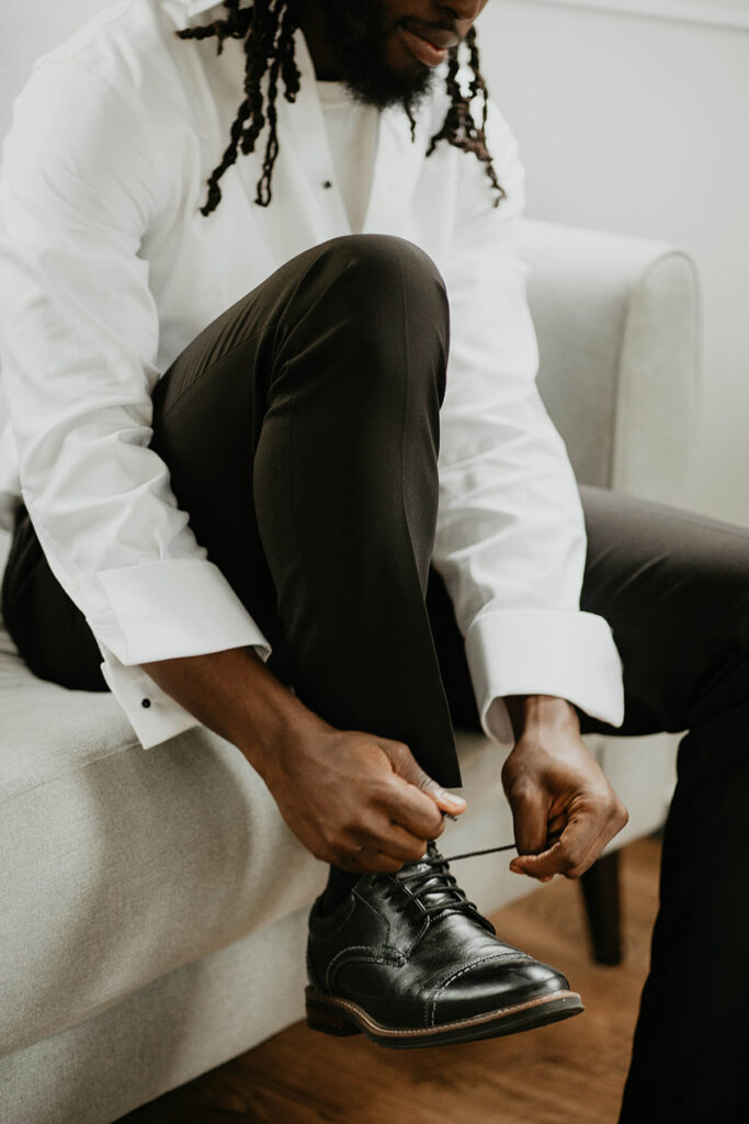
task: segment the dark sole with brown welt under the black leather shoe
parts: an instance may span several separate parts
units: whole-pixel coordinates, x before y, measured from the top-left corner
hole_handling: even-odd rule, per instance
[[[572,1018],[585,1010],[576,991],[551,991],[473,1018],[462,1018],[439,1026],[401,1030],[383,1026],[350,999],[323,995],[311,987],[307,988],[305,994],[307,1025],[311,1030],[338,1037],[365,1034],[378,1046],[393,1050],[417,1050],[420,1046],[450,1045],[455,1042],[476,1042],[503,1034],[519,1034],[521,1031],[532,1031],[537,1026]]]

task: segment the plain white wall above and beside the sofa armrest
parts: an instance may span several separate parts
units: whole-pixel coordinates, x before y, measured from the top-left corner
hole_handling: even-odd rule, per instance
[[[615,10],[627,3],[633,13]],[[725,6],[736,25],[742,3]],[[692,506],[749,525],[749,29],[634,12],[648,4],[491,0],[483,66],[520,140],[530,217],[664,238],[696,260]],[[719,20],[720,8],[694,11]]]

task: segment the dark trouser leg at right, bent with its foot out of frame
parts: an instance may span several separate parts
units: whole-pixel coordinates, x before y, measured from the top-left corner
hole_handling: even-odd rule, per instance
[[[678,750],[620,1124],[749,1118],[749,532],[582,489],[583,608],[611,623],[622,734]],[[585,731],[611,731],[583,719]]]

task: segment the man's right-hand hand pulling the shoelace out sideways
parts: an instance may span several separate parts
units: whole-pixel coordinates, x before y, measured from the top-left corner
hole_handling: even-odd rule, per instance
[[[502,768],[514,821],[515,873],[548,882],[579,878],[622,830],[628,812],[591,756],[572,704],[551,696],[505,699],[515,745]]]

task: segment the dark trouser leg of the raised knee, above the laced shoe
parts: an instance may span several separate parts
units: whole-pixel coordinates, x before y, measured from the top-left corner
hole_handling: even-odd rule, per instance
[[[448,311],[402,239],[287,262],[185,348],[154,448],[209,558],[316,713],[409,744],[459,785],[424,605]]]

